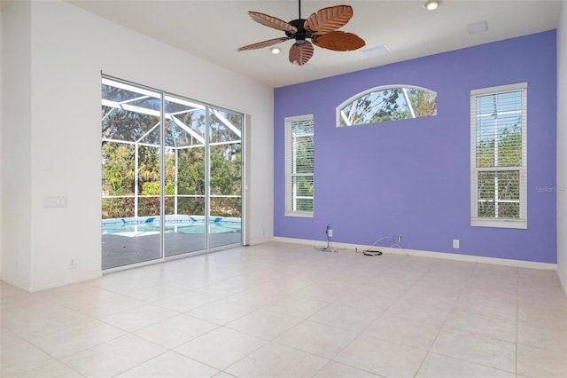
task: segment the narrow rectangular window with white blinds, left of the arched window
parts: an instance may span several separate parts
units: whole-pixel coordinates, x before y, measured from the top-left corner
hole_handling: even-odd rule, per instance
[[[313,217],[313,114],[285,118],[285,216]]]

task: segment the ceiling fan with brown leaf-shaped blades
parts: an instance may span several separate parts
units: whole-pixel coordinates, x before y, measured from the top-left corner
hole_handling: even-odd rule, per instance
[[[290,22],[260,12],[248,12],[248,15],[252,20],[264,26],[282,30],[285,36],[248,44],[240,47],[238,51],[262,49],[295,39],[290,49],[289,59],[291,63],[303,66],[313,57],[314,44],[333,51],[352,51],[366,44],[358,35],[337,30],[353,17],[353,8],[350,5],[322,8],[305,20],[301,18],[301,0],[299,0],[299,19]],[[312,43],[307,41],[308,39]]]

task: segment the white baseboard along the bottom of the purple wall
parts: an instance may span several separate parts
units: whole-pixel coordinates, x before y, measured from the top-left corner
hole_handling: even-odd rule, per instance
[[[294,244],[306,244],[312,246],[325,247],[327,242],[321,240],[307,240],[307,239],[293,239],[293,238],[283,238],[276,236],[274,241],[281,241],[284,243],[294,243]],[[360,244],[349,244],[349,243],[331,243],[332,248],[338,249],[352,249],[358,248],[361,250],[368,248],[379,248],[382,252],[392,255],[408,255],[408,256],[422,256],[422,257],[432,257],[432,258],[444,258],[448,260],[455,261],[466,261],[470,263],[481,263],[481,264],[496,264],[496,265],[506,265],[514,266],[517,268],[528,268],[528,269],[542,269],[547,271],[557,271],[557,264],[549,263],[538,263],[533,261],[524,260],[512,260],[507,258],[495,258],[495,257],[485,257],[485,256],[471,256],[471,255],[457,255],[453,253],[445,252],[433,252],[433,251],[423,251],[417,249],[406,249],[406,248],[392,248],[392,247],[376,247],[376,246],[365,246]],[[567,278],[565,278],[567,279]],[[563,284],[564,286],[564,284]],[[566,291],[567,292],[567,291]]]

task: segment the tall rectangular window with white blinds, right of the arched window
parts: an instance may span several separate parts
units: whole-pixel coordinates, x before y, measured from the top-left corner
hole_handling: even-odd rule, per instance
[[[527,83],[470,91],[473,226],[527,228]]]

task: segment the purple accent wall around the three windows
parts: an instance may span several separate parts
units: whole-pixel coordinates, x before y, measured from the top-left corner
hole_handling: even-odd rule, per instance
[[[286,238],[556,263],[555,30],[274,91],[274,229]],[[340,53],[340,52],[338,52]],[[528,83],[528,229],[470,226],[470,90]],[[372,87],[438,93],[438,114],[335,127],[335,109]],[[283,120],[315,114],[315,217],[284,217]],[[453,248],[453,239],[461,248]],[[387,240],[378,245],[388,246]]]

